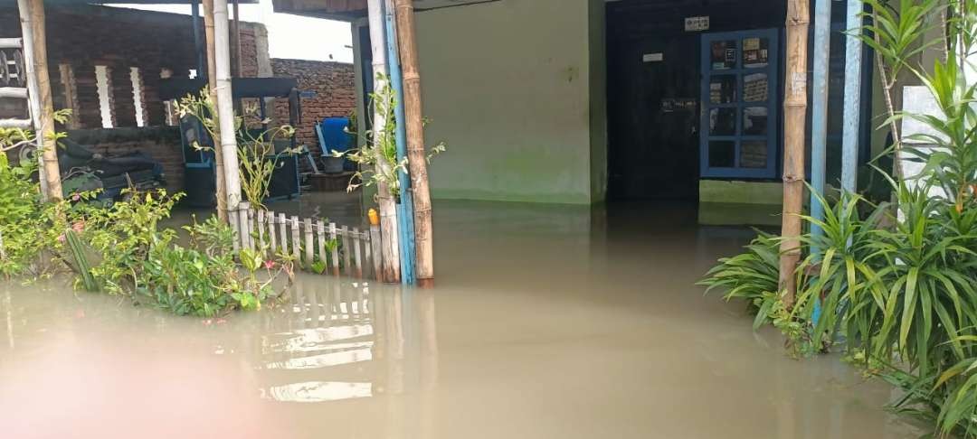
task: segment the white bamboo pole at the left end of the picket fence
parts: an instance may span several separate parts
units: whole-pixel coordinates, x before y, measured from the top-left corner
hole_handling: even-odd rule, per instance
[[[240,176],[237,165],[237,139],[234,133],[234,100],[231,92],[231,54],[228,43],[228,0],[214,2],[214,60],[217,91],[217,115],[220,122],[220,139],[224,163],[224,181],[227,191],[227,209],[237,211],[241,198]],[[230,220],[234,220],[233,218]]]

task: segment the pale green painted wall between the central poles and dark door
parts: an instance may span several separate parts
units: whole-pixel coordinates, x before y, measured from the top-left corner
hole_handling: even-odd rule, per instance
[[[591,68],[603,70],[604,57],[589,53],[603,53],[603,37],[591,38],[591,3],[502,0],[417,15],[426,138],[447,143],[430,168],[435,198],[603,199],[603,73]]]

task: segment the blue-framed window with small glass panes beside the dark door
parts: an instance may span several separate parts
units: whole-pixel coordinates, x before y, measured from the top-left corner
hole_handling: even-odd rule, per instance
[[[779,34],[702,35],[701,177],[777,177]]]

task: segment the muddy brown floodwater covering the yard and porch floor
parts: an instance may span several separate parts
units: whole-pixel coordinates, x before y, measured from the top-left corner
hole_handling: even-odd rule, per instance
[[[435,289],[302,275],[287,302],[226,319],[6,283],[0,437],[923,432],[882,409],[886,384],[835,356],[788,359],[743,303],[703,296],[695,281],[751,232],[695,224],[687,206],[438,203]]]

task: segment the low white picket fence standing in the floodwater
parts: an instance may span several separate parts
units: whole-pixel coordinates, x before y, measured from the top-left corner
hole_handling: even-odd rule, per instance
[[[240,203],[234,251],[250,249],[290,255],[306,270],[379,280],[380,227],[369,230],[311,218],[253,209]]]

